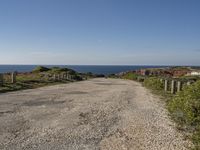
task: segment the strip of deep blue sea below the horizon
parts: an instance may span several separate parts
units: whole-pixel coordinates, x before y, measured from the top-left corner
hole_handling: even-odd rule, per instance
[[[0,65],[0,73],[6,72],[30,72],[32,71],[37,65]],[[67,67],[73,69],[77,72],[86,73],[92,72],[94,74],[113,74],[119,73],[124,71],[131,71],[137,70],[142,68],[155,68],[160,66],[96,66],[96,65],[43,65],[46,67]],[[162,66],[163,67],[163,66]]]

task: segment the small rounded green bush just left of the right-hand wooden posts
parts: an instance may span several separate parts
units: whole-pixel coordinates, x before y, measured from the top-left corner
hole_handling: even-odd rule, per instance
[[[164,85],[157,77],[149,77],[144,80],[144,85],[152,90],[163,90]]]

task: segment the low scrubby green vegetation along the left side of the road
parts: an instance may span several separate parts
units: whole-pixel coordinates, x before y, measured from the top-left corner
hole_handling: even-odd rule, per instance
[[[63,73],[70,75],[72,78],[71,79],[63,79],[63,78],[55,79],[54,77],[55,75],[58,76]],[[92,77],[94,77],[93,74],[89,75],[87,73],[86,74],[78,73],[69,68],[59,68],[59,67],[47,68],[43,66],[38,66],[35,69],[33,69],[32,72],[17,73],[15,83],[11,83],[11,75],[9,73],[4,74],[3,76],[4,82],[3,82],[3,85],[0,86],[0,93],[23,90],[23,89],[38,88],[38,87],[47,86],[47,85],[55,85],[55,84],[81,81],[81,80],[85,80]]]

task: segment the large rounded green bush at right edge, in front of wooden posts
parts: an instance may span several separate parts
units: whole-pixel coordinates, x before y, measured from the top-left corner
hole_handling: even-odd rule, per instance
[[[187,125],[200,123],[200,81],[185,86],[169,102],[169,110],[178,121]],[[181,114],[181,115],[177,115]]]

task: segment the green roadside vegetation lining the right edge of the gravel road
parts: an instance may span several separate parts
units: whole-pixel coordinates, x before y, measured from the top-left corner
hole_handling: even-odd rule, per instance
[[[135,76],[134,73],[127,73],[122,77],[136,80]],[[186,78],[194,77],[182,77]],[[176,94],[164,92],[164,83],[159,77],[145,77],[142,84],[166,100],[170,116],[177,123],[177,128],[193,141],[194,150],[200,150],[200,80],[199,77],[195,79],[195,83],[184,85],[182,91]]]

